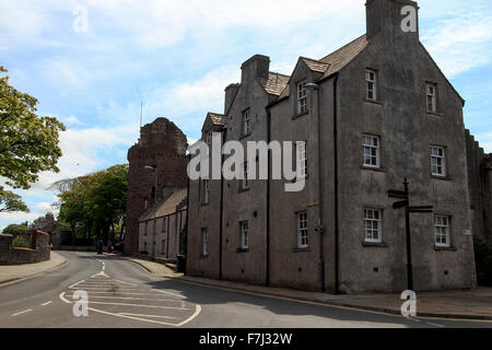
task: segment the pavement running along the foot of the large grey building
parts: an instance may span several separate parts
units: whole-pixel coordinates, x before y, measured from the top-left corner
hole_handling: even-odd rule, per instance
[[[177,273],[162,264],[133,257],[124,258],[140,265],[152,275],[162,278],[171,278],[224,290],[241,291],[243,293],[401,315],[401,304],[403,301],[400,294],[333,295],[285,288],[249,285],[231,281],[184,276],[184,273]],[[417,293],[417,314],[419,317],[492,320],[492,288],[481,287],[475,290],[464,291],[419,292]]]

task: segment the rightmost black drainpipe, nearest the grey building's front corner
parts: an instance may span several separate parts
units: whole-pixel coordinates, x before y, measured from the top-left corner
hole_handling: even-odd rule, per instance
[[[338,104],[337,104],[338,73],[333,80],[333,172],[335,172],[335,294],[340,293],[340,257],[339,257],[339,198],[338,198]]]

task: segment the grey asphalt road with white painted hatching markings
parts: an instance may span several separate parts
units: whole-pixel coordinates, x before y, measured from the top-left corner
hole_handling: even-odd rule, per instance
[[[0,287],[0,328],[413,328],[492,327],[253,295],[157,278],[118,256],[60,253],[68,264]],[[89,298],[87,316],[80,299]],[[79,302],[79,304],[78,304]]]

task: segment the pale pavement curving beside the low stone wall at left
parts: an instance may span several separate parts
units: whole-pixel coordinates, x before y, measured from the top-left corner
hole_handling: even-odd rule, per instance
[[[51,252],[51,258],[47,261],[23,265],[0,265],[0,284],[7,284],[51,271],[63,264],[67,259]]]

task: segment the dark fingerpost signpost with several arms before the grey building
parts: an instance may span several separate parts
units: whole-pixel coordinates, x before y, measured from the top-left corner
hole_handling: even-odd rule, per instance
[[[412,268],[412,250],[410,240],[410,213],[427,213],[433,212],[432,206],[410,207],[410,194],[408,189],[408,180],[405,177],[403,190],[390,189],[388,190],[389,198],[402,199],[393,203],[393,209],[405,208],[405,229],[407,236],[407,288],[413,290],[413,268]]]

